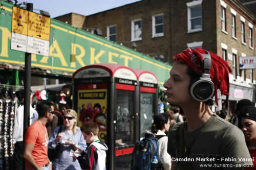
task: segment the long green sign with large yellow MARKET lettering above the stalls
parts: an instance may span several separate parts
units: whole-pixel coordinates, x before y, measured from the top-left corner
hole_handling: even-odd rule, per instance
[[[25,53],[11,50],[12,4],[0,5],[0,62],[25,65]],[[32,67],[62,74],[97,63],[115,63],[153,72],[159,85],[169,77],[170,65],[87,31],[51,19],[49,57],[31,55]]]

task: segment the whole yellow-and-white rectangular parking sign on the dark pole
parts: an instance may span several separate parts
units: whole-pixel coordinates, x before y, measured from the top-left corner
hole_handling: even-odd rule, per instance
[[[49,56],[51,18],[12,8],[11,49]]]

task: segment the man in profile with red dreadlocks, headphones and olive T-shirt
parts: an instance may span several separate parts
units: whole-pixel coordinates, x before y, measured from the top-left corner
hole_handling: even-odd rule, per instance
[[[174,60],[164,87],[167,102],[181,107],[186,122],[177,123],[168,131],[167,152],[172,157],[172,170],[252,164],[239,159],[250,158],[243,132],[214,114],[209,106],[213,96],[218,105],[217,89],[222,95],[229,95],[231,68],[227,62],[202,48],[187,48]]]

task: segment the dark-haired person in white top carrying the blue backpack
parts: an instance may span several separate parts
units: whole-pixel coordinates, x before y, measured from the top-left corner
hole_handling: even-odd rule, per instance
[[[170,128],[169,114],[157,114],[154,116],[154,123],[152,125],[152,132],[158,135],[164,135],[158,140],[158,160],[162,164],[164,170],[170,170],[172,160],[167,153],[168,137],[165,132]]]

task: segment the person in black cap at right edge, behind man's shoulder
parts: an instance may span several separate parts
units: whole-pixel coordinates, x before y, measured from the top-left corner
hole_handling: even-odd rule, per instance
[[[247,106],[240,110],[239,114],[240,128],[244,133],[247,147],[251,158],[253,158],[253,167],[246,170],[256,168],[256,108]]]

